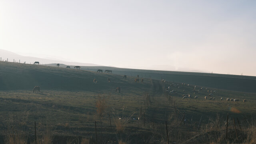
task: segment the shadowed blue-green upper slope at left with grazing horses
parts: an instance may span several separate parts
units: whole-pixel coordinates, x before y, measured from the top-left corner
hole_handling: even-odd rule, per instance
[[[98,80],[96,86],[93,83],[94,78]],[[112,82],[109,83],[108,78]],[[97,91],[124,85],[133,87],[133,79],[74,68],[0,62],[0,90],[32,90],[34,86],[40,86],[45,90]]]

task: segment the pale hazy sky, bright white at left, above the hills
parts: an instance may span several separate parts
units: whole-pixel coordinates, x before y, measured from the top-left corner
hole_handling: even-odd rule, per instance
[[[0,49],[256,76],[256,0],[0,0]]]

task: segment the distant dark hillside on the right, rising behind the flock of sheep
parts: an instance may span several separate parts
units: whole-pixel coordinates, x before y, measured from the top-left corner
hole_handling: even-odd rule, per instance
[[[47,64],[48,65],[48,64]],[[49,64],[48,66],[56,66]],[[66,67],[66,65],[60,65]],[[74,67],[73,67],[74,68]],[[112,70],[113,74],[121,74],[127,76],[137,76],[144,78],[153,78],[160,80],[166,79],[170,82],[180,82],[217,88],[223,90],[232,90],[240,92],[256,92],[256,77],[255,76],[240,76],[231,74],[211,74],[200,72],[176,72],[176,71],[161,71],[161,70],[138,70],[128,68],[115,68],[107,66],[82,66],[82,70],[90,70],[96,72],[98,69]]]

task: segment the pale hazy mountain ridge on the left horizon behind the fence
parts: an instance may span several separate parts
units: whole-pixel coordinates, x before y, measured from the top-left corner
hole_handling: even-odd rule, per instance
[[[19,54],[16,54],[14,52],[10,52],[7,50],[2,50],[0,49],[0,57],[1,60],[7,61],[8,62],[20,62],[26,64],[32,64],[34,62],[40,62],[40,64],[52,64],[52,63],[60,63],[60,64],[66,64],[66,65],[78,65],[78,66],[102,66],[98,64],[90,64],[90,63],[81,63],[81,62],[66,62],[66,61],[61,61],[61,60],[50,60],[50,59],[45,59],[45,58],[36,58],[36,57],[31,57],[31,56],[22,56]]]

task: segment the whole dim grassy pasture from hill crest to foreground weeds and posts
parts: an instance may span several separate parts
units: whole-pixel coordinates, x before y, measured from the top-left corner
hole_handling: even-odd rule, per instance
[[[198,134],[207,133],[214,137],[216,130],[222,132],[227,113],[230,116],[230,143],[245,143],[246,140],[242,131],[238,132],[239,140],[234,139],[232,118],[240,120],[243,132],[248,132],[246,130],[255,126],[256,93],[252,93],[251,86],[248,92],[245,91],[248,86],[246,83],[236,84],[239,88],[234,87],[232,90],[227,88],[230,86],[222,87],[234,81],[252,81],[250,84],[254,86],[255,77],[175,72],[162,74],[162,78],[167,80],[163,82],[157,78],[161,75],[160,71],[147,71],[151,78],[144,75],[146,70],[144,73],[139,73],[138,70],[130,72],[134,74],[127,74],[124,79],[122,74],[126,73],[115,74],[118,72],[114,70],[113,74],[98,74],[95,70],[0,62],[0,143],[4,143],[4,140],[5,143],[10,143],[6,140],[12,132],[19,132],[28,143],[35,143],[34,122],[38,143],[42,143],[42,140],[46,143],[45,136],[48,136],[54,144],[82,144],[86,140],[96,143],[95,122],[98,144],[120,144],[121,141],[125,144],[166,144],[165,122],[170,143],[193,143],[190,138],[196,138]],[[134,82],[136,73],[140,79],[143,77],[144,83]],[[182,76],[184,78],[176,81],[171,78],[174,76],[177,79]],[[195,76],[202,77],[200,84],[207,83],[203,80],[206,77],[216,79],[213,83],[220,80],[220,88],[207,89],[216,91],[212,92],[215,100],[204,99],[210,93],[205,89],[210,85],[208,83],[197,85],[196,90],[201,87],[204,89],[195,94],[194,83],[182,85],[183,79],[187,83],[190,80],[185,80],[186,78]],[[96,84],[93,82],[94,78],[97,79]],[[39,93],[32,92],[34,86],[40,86]],[[166,93],[168,86],[171,90],[176,90],[176,93]],[[120,93],[115,92],[116,87],[121,88]],[[183,100],[183,94],[191,94],[193,98]],[[194,99],[194,96],[198,96],[198,99]],[[221,97],[224,100],[221,101]],[[96,107],[99,98],[104,109],[102,118]],[[226,98],[240,101],[227,102]],[[244,99],[247,102],[242,102]],[[209,138],[207,140],[211,142]]]

